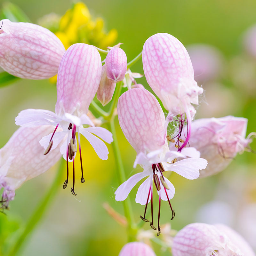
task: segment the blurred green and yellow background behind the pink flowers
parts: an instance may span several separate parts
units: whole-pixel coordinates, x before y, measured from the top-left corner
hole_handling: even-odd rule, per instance
[[[12,3],[17,4],[33,23],[38,23],[41,17],[52,12],[61,16],[72,5],[70,0],[12,0]],[[253,54],[256,42],[250,47],[248,42],[244,43],[250,37],[247,29],[256,24],[254,0],[88,0],[84,3],[93,19],[103,18],[106,31],[117,30],[116,43],[124,43],[122,48],[128,61],[141,52],[145,40],[155,33],[167,32],[177,37],[187,47],[196,80],[205,90],[196,118],[242,116],[249,120],[247,134],[256,131],[256,56]],[[132,71],[143,74],[141,60],[132,67]],[[149,89],[144,77],[137,82]],[[21,110],[54,110],[55,103],[56,87],[48,80],[18,80],[1,88],[0,147],[17,129],[14,118]],[[136,154],[124,138],[117,119],[116,126],[126,176],[130,177],[140,168],[132,168]],[[255,142],[251,146],[256,150]],[[101,161],[91,146],[83,141],[86,182],[79,182],[81,176],[77,172],[76,197],[69,189],[64,190],[62,183],[59,185],[53,203],[20,255],[118,255],[127,236],[125,228],[103,207],[108,203],[123,214],[122,203],[114,198],[119,184],[114,155],[111,147],[108,148],[108,161]],[[172,228],[179,230],[195,221],[223,222],[240,232],[256,250],[255,166],[255,154],[245,152],[238,155],[225,171],[209,178],[186,180],[171,174],[170,180],[176,188],[172,199],[176,213],[171,221]],[[1,250],[5,251],[7,245],[13,243],[20,227],[25,225],[51,185],[57,168],[55,166],[23,184],[16,191],[7,216],[0,214]],[[135,203],[135,194],[136,189],[133,189],[134,218],[140,222],[144,207]],[[161,224],[170,223],[170,217],[169,206],[163,203]],[[145,223],[142,228],[149,227]],[[171,255],[159,244],[152,245],[157,255]]]

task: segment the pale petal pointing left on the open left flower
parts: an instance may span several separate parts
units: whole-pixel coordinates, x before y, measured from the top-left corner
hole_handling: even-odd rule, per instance
[[[15,123],[22,127],[34,127],[44,124],[57,125],[59,117],[52,111],[44,109],[25,109],[15,118]]]

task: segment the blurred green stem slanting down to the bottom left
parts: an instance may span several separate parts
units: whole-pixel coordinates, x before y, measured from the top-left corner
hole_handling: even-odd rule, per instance
[[[52,202],[53,198],[57,195],[57,191],[59,189],[59,184],[62,179],[62,170],[63,170],[65,164],[66,164],[66,162],[63,159],[61,159],[59,170],[56,174],[55,179],[52,182],[51,187],[46,192],[46,194],[43,197],[43,199],[41,200],[41,202],[37,205],[37,208],[34,211],[34,213],[31,215],[30,219],[28,220],[28,223],[27,223],[25,229],[20,234],[15,245],[12,247],[11,251],[9,252],[9,254],[8,254],[9,256],[17,255],[20,248],[23,246],[24,242],[26,241],[27,236],[35,229],[36,225],[42,219],[45,210],[47,209],[49,204]]]

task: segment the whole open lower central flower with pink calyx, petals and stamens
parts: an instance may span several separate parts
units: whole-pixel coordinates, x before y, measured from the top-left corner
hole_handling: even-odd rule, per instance
[[[168,201],[172,210],[170,199],[174,196],[175,189],[172,183],[163,175],[164,171],[176,172],[187,179],[196,179],[199,170],[207,165],[205,159],[200,158],[200,153],[195,148],[184,148],[181,152],[170,151],[166,139],[164,112],[156,98],[147,90],[134,88],[124,92],[118,100],[117,113],[119,124],[126,139],[137,152],[133,167],[137,164],[143,167],[143,172],[137,173],[120,185],[116,192],[116,200],[123,201],[127,198],[132,188],[143,178],[149,176],[139,187],[136,203],[145,205],[145,218],[147,205],[151,195],[151,228],[153,226],[153,187],[155,184],[159,195],[158,235],[160,234],[160,204],[161,199]],[[185,158],[176,162],[176,158]],[[188,157],[188,158],[186,158]],[[175,163],[176,162],[176,163]],[[154,181],[154,182],[153,182]],[[172,210],[172,219],[174,211]]]

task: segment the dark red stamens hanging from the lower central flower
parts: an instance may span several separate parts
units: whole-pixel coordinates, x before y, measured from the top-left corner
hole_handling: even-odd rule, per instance
[[[166,189],[170,189],[170,188],[168,187],[167,183],[164,180],[165,179],[164,175],[163,175],[164,167],[163,167],[163,165],[161,163],[152,164],[152,170],[153,170],[153,180],[154,180],[154,184],[156,186],[156,190],[159,191],[161,189],[161,186],[164,187],[164,191],[165,191],[165,194],[167,196],[167,200],[169,202],[169,205],[170,205],[171,211],[172,211],[172,218],[171,218],[171,220],[173,220],[173,218],[175,216],[175,212],[172,209],[172,205],[171,205],[170,199],[169,199],[167,191],[166,191]],[[158,175],[156,174],[156,172],[159,172],[161,174],[160,180],[159,180]],[[156,230],[156,228],[153,225],[153,188],[152,188],[152,185],[150,185],[150,188],[149,188],[149,191],[148,191],[148,198],[147,198],[147,203],[146,203],[146,206],[145,206],[144,217],[142,217],[140,215],[140,218],[142,220],[144,220],[145,222],[149,222],[149,220],[146,219],[146,211],[147,211],[148,199],[149,199],[150,194],[151,194],[151,222],[150,222],[150,227],[153,228],[154,230]],[[160,193],[159,193],[157,236],[159,236],[160,233],[161,233],[161,228],[160,228],[160,224],[159,224],[159,222],[160,222],[160,208],[161,208],[161,196],[160,196]]]

